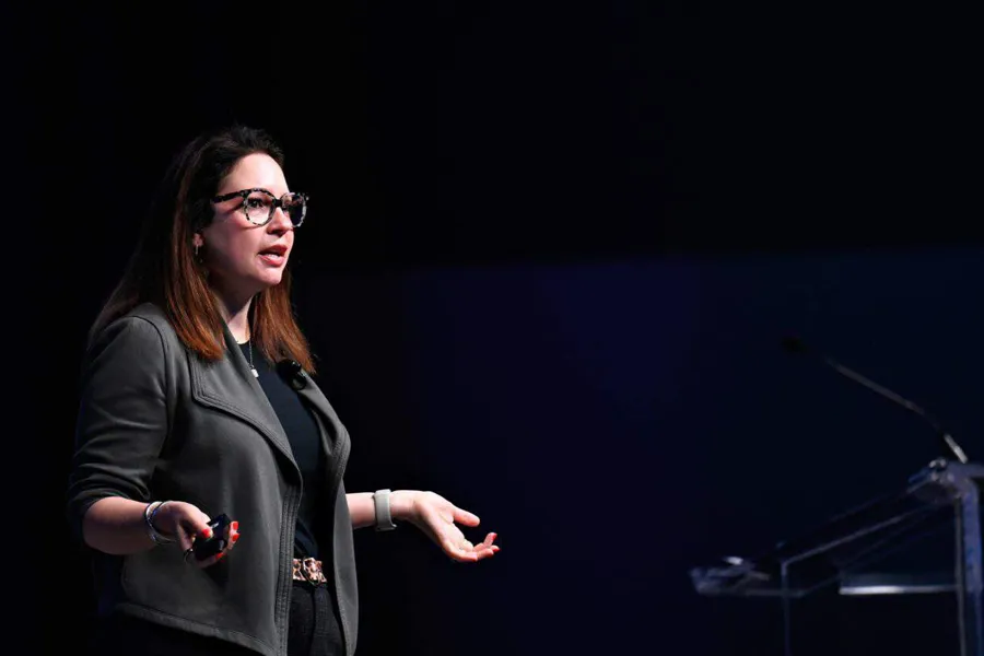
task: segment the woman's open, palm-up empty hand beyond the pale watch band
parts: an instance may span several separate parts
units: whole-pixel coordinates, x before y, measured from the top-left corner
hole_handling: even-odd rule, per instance
[[[494,532],[478,544],[468,541],[455,523],[478,526],[479,518],[434,492],[414,490],[403,518],[420,528],[456,561],[478,562],[499,552],[499,544],[493,543],[497,537]]]

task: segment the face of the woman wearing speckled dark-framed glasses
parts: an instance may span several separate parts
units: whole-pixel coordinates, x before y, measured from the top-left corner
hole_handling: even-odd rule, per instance
[[[254,188],[266,189],[274,198],[289,191],[283,171],[267,154],[239,160],[215,196]],[[246,202],[236,196],[213,203],[214,219],[192,242],[201,246],[210,284],[231,302],[246,301],[279,284],[294,245],[294,227],[282,209],[277,208],[266,225],[257,225],[246,216]]]

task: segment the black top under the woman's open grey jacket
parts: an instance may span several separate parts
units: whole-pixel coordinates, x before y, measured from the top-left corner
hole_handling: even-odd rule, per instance
[[[249,362],[249,342],[239,344],[243,356]],[[259,373],[259,384],[267,394],[277,418],[286,433],[294,454],[294,461],[301,469],[304,480],[301,495],[301,507],[297,509],[297,526],[294,537],[295,558],[320,558],[315,539],[315,522],[324,487],[323,467],[325,452],[318,435],[318,425],[311,410],[291,386],[280,377],[273,364],[267,361],[256,349],[253,351],[253,364]]]

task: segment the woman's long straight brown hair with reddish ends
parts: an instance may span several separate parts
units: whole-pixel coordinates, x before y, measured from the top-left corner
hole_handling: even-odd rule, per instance
[[[174,157],[151,201],[137,249],[102,312],[90,340],[137,305],[152,302],[167,315],[185,345],[206,360],[225,354],[224,320],[198,263],[192,235],[213,218],[210,199],[246,155],[266,153],[283,167],[283,152],[265,131],[233,126],[197,137]],[[251,339],[272,362],[296,360],[314,373],[307,339],[291,303],[291,272],[253,298]]]

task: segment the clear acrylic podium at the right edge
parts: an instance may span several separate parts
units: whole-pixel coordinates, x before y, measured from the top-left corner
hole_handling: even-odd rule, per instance
[[[984,656],[981,481],[982,465],[934,460],[899,489],[757,558],[694,567],[691,582],[704,596],[776,598],[785,656],[795,654],[794,601],[820,590],[954,595],[959,654]],[[937,558],[940,551],[948,558]]]

